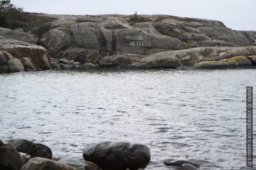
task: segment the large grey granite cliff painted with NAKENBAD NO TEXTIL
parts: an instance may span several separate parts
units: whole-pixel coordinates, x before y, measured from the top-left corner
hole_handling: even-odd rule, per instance
[[[256,46],[256,31],[235,31],[222,22],[170,15],[48,15],[50,30],[40,40],[51,57],[100,64],[103,57],[121,53],[152,55],[194,47]],[[168,61],[169,62],[169,61]],[[171,62],[171,61],[170,61]],[[176,61],[175,61],[176,62]]]

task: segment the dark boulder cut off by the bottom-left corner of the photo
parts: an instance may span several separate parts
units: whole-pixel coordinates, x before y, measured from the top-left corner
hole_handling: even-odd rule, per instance
[[[8,142],[0,139],[0,169],[20,170],[20,153]]]

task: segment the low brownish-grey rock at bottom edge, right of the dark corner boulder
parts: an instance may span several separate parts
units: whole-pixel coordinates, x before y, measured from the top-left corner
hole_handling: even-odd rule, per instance
[[[75,168],[58,161],[42,157],[34,157],[22,166],[21,170],[75,170]]]

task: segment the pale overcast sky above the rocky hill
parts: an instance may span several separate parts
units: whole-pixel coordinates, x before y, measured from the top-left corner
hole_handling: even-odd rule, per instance
[[[256,0],[11,0],[26,12],[49,14],[168,14],[222,21],[233,30],[256,31]]]

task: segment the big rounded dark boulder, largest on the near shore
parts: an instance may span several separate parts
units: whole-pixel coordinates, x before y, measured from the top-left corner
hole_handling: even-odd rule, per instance
[[[133,170],[145,168],[151,156],[146,145],[106,141],[87,145],[83,157],[100,168]]]

